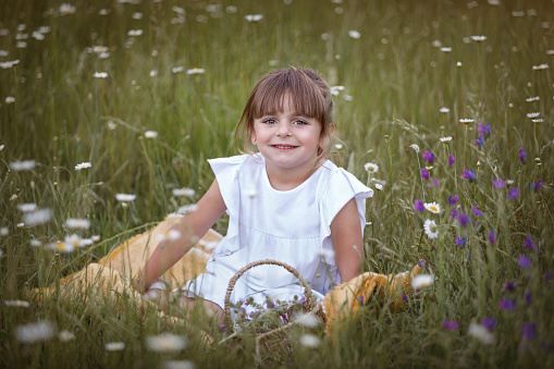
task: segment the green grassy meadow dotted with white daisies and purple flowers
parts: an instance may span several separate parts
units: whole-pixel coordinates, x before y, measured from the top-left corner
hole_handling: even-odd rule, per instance
[[[0,367],[554,367],[553,1],[1,9]],[[35,304],[197,201],[206,159],[238,153],[255,83],[290,65],[333,86],[331,159],[376,190],[362,271],[424,259],[432,284],[402,312],[370,300],[332,341],[298,329],[261,356],[248,332],[128,298]],[[157,348],[161,334],[176,344]]]

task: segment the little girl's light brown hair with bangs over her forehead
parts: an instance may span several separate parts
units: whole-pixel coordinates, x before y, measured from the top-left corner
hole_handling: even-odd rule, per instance
[[[291,66],[278,70],[268,73],[256,84],[236,126],[235,144],[242,132],[245,151],[254,152],[254,120],[283,111],[285,96],[291,98],[297,113],[321,123],[321,137],[325,137],[327,144],[318,148],[318,158],[327,157],[332,143],[333,99],[327,82],[318,72],[309,69]]]

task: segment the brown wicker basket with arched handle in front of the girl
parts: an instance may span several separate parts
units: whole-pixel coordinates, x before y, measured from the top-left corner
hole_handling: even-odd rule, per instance
[[[231,294],[233,293],[233,288],[235,287],[236,281],[249,269],[263,266],[263,265],[273,265],[279,266],[287,271],[290,271],[300,285],[304,287],[304,295],[306,296],[306,303],[304,304],[304,312],[311,312],[321,320],[324,319],[324,313],[321,310],[321,305],[318,303],[318,299],[316,295],[313,295],[313,292],[311,291],[311,287],[309,284],[304,280],[304,278],[298,273],[296,269],[288,266],[285,262],[272,260],[272,259],[266,259],[266,260],[259,260],[254,261],[245,266],[244,268],[239,269],[235,275],[229,281],[229,286],[225,294],[225,309],[224,309],[224,323],[226,327],[227,332],[231,334],[234,332],[234,323],[233,319],[231,318]],[[295,325],[296,321],[288,322],[284,324],[283,327],[276,328],[272,331],[260,333],[256,336],[256,357],[260,357],[260,346],[263,346],[264,348],[269,350],[274,350],[275,348],[282,348],[285,350],[291,350],[292,346],[291,343],[287,340],[286,330],[288,330],[291,327]]]

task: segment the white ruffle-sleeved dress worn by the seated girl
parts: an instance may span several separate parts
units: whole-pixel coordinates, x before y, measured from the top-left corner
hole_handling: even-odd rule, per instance
[[[275,259],[295,268],[310,283],[318,299],[341,283],[333,257],[331,222],[352,198],[356,199],[361,231],[366,225],[366,198],[373,190],[331,161],[291,190],[274,189],[260,155],[208,160],[230,216],[227,234],[213,249],[206,273],[183,287],[224,308],[231,278],[249,262]],[[361,245],[358,245],[361,247]],[[231,303],[253,296],[264,305],[301,297],[297,279],[279,266],[258,266],[243,274]]]

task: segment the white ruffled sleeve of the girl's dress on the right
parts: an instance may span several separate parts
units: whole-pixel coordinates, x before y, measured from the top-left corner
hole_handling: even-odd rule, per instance
[[[323,241],[321,255],[325,262],[334,266],[335,260],[332,253],[333,245],[331,243],[331,223],[333,219],[338,211],[354,198],[358,208],[361,234],[364,235],[364,229],[366,226],[366,199],[373,196],[373,190],[342,168],[336,168],[325,173],[325,175],[331,176],[327,188],[318,188],[318,190],[321,192],[321,196],[319,197],[321,201],[320,237]]]

